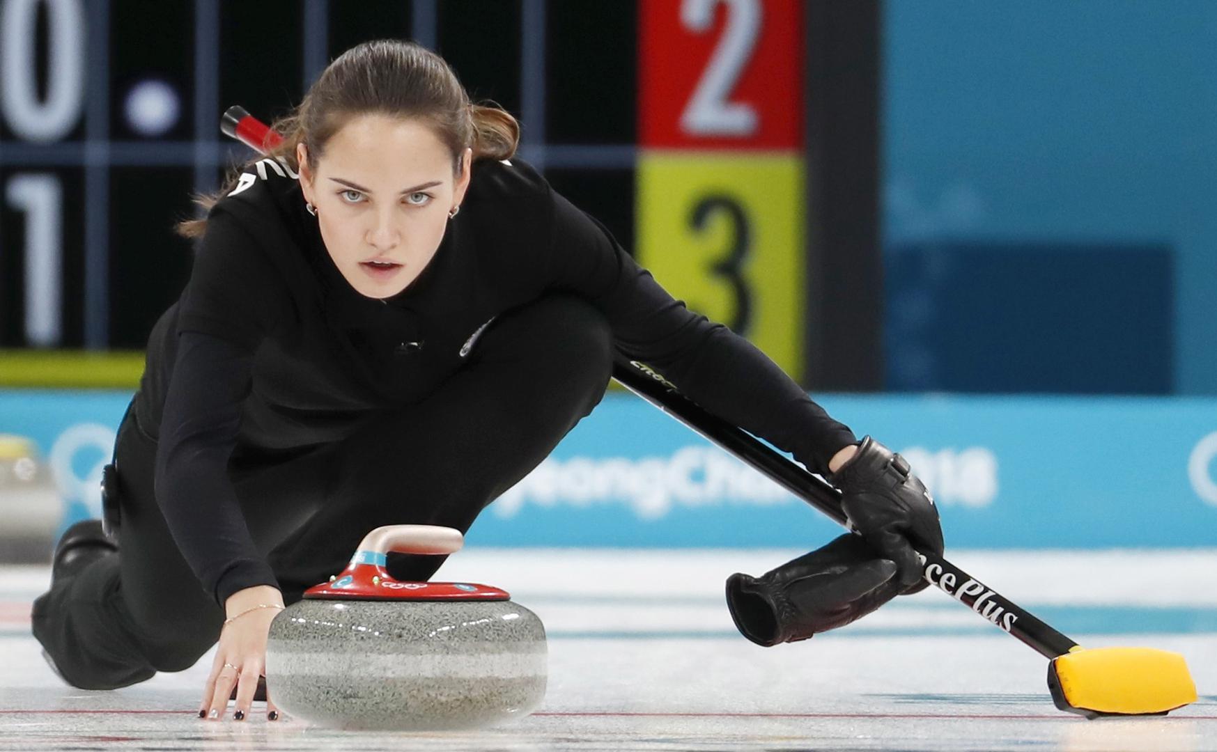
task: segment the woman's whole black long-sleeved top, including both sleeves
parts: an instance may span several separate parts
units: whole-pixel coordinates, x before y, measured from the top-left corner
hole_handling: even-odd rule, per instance
[[[473,164],[434,258],[385,301],[342,277],[285,163],[251,169],[208,214],[175,325],[152,333],[161,363],[150,358],[138,398],[141,426],[159,440],[166,522],[220,605],[242,588],[277,587],[226,473],[239,443],[338,440],[438,388],[483,324],[546,291],[585,297],[622,354],[813,472],[856,440],[750,342],[673,299],[523,161]]]

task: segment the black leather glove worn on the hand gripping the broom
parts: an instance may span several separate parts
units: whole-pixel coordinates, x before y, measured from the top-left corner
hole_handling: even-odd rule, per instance
[[[913,544],[941,556],[942,526],[933,498],[908,461],[868,436],[829,481],[841,489],[849,526],[896,562],[903,593],[924,590],[930,583],[921,577],[924,568]]]

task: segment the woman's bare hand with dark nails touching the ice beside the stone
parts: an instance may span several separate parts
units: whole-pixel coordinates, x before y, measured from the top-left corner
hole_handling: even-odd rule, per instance
[[[267,638],[270,633],[270,622],[277,614],[277,608],[256,608],[224,625],[215,650],[215,661],[212,662],[212,673],[203,690],[200,718],[223,719],[234,685],[237,691],[232,718],[245,720],[249,715],[253,692],[258,689],[258,677],[267,675]],[[270,700],[269,688],[267,718],[279,718],[279,708]]]

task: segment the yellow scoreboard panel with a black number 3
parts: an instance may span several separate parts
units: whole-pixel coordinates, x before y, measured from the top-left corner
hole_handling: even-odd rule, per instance
[[[649,151],[638,161],[638,262],[685,304],[798,381],[803,164],[795,152]]]

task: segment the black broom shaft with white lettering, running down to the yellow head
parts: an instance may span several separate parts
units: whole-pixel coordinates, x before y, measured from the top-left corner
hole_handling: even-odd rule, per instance
[[[612,375],[630,392],[761,471],[828,515],[837,524],[848,528],[845,511],[841,509],[841,492],[828,482],[803,470],[742,428],[695,404],[645,365],[618,360],[613,363]],[[981,617],[1009,632],[1039,655],[1055,658],[1077,645],[946,559],[921,549],[918,549],[918,554],[925,561],[925,578],[930,584],[971,607]]]

